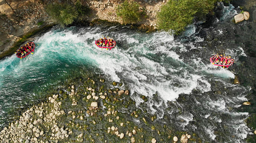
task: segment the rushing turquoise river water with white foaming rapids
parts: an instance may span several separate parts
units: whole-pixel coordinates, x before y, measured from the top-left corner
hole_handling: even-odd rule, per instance
[[[224,6],[221,25],[237,12]],[[147,110],[171,117],[169,123],[181,131],[195,132],[211,143],[244,143],[250,132],[244,120],[248,113],[236,112],[247,101],[250,86],[233,85],[235,75],[209,62],[213,49],[201,46],[199,27],[190,25],[175,38],[167,32],[141,33],[128,26],[54,27],[34,41],[33,55],[14,54],[0,61],[0,126],[43,97],[49,86],[58,86],[76,70],[87,69],[108,81],[125,83],[137,108],[148,97]],[[219,33],[218,33],[219,32]],[[216,29],[217,34],[221,31]],[[112,50],[100,49],[95,40],[116,40]],[[246,56],[241,47],[225,47],[234,59]],[[157,94],[158,99],[153,95]]]

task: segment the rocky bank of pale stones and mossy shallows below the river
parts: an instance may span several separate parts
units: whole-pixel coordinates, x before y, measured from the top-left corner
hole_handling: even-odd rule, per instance
[[[199,143],[196,134],[173,129],[156,115],[137,109],[129,90],[104,79],[63,85],[0,132],[1,143]],[[65,87],[64,87],[65,86]],[[147,98],[142,96],[147,104]],[[156,120],[157,119],[157,120]]]

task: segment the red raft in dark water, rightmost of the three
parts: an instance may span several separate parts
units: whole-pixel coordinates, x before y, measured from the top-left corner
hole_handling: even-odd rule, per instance
[[[232,59],[230,56],[214,55],[210,58],[210,62],[216,66],[228,68],[234,63],[234,59]]]

